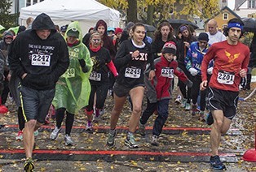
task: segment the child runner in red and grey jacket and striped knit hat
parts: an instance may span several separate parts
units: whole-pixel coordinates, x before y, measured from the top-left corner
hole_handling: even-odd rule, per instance
[[[161,135],[162,128],[166,123],[169,111],[169,101],[171,98],[171,83],[174,75],[177,75],[188,87],[192,87],[192,82],[188,80],[183,71],[177,69],[178,62],[174,60],[176,55],[176,45],[174,42],[166,42],[162,49],[160,58],[155,59],[156,77],[154,80],[148,80],[148,72],[151,67],[147,67],[145,72],[145,84],[147,95],[147,109],[144,110],[139,120],[139,133],[145,135],[145,124],[148,118],[157,110],[157,118],[152,130],[152,142],[154,146],[158,146],[158,137]]]

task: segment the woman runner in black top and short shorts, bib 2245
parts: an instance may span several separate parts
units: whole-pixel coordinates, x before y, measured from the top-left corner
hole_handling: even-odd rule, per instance
[[[122,42],[117,52],[116,60],[114,61],[117,69],[119,69],[117,70],[119,75],[113,87],[114,107],[111,113],[110,131],[107,141],[109,148],[115,146],[118,118],[128,95],[130,95],[133,108],[125,144],[130,148],[139,148],[138,144],[135,142],[134,132],[139,123],[142,109],[144,92],[143,71],[147,62],[151,64],[148,80],[152,80],[155,76],[155,67],[150,45],[143,42],[145,32],[146,30],[143,24],[135,24],[131,30],[132,38]]]

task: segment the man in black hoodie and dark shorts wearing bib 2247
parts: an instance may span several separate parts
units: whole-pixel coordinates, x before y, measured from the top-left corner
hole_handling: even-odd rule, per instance
[[[20,100],[25,119],[24,150],[27,157],[24,170],[32,171],[33,131],[44,123],[55,95],[55,84],[69,65],[67,45],[48,15],[38,15],[32,29],[15,38],[9,52],[9,63],[11,71],[21,79]]]

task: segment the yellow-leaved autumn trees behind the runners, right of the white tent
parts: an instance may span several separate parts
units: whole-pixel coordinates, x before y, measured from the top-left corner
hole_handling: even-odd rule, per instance
[[[137,12],[143,22],[157,24],[161,19],[199,16],[209,19],[219,11],[218,0],[99,0],[104,5],[126,10],[127,20],[136,22]],[[136,7],[137,6],[137,7]],[[188,17],[187,17],[188,18]]]

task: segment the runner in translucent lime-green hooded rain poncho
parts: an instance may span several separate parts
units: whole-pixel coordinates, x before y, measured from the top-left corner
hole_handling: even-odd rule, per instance
[[[66,145],[73,145],[70,133],[73,127],[74,114],[88,105],[90,96],[89,75],[92,68],[90,53],[82,43],[82,30],[77,21],[68,24],[65,39],[68,45],[70,64],[64,75],[56,84],[56,94],[52,105],[56,110],[56,127],[51,132],[50,139],[56,140],[61,123],[66,113],[66,127],[64,141]]]

